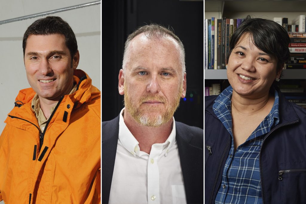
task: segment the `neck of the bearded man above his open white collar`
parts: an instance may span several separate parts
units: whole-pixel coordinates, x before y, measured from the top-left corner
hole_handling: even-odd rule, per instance
[[[153,144],[166,142],[172,131],[172,119],[159,127],[147,127],[136,122],[126,109],[123,118],[125,125],[139,142],[140,150],[147,154],[150,154]]]

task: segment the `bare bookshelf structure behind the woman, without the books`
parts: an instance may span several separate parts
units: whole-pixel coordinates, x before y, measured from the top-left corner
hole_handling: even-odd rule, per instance
[[[205,19],[252,17],[272,19],[287,17],[288,23],[301,14],[306,14],[306,1],[204,1]],[[306,80],[306,69],[284,69],[282,80]],[[225,69],[205,69],[205,80],[226,80]]]

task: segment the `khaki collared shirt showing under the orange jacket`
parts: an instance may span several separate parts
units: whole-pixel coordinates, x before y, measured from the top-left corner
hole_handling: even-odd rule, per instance
[[[77,87],[77,84],[74,85],[74,87],[72,88],[72,90],[70,91],[69,94],[73,94],[76,91],[76,87]],[[51,114],[54,111],[55,106],[50,108],[50,113]],[[45,117],[45,115],[43,114],[43,110],[40,108],[38,94],[35,94],[34,98],[32,99],[32,106],[31,107],[36,114],[36,118],[37,118],[37,121],[38,121],[38,124],[39,124],[39,128],[40,128],[41,132],[43,132],[45,130],[45,126],[46,126],[49,118]]]

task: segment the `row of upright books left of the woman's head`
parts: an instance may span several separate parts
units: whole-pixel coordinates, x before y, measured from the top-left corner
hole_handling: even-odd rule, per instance
[[[229,42],[242,19],[205,19],[205,69],[225,69]]]

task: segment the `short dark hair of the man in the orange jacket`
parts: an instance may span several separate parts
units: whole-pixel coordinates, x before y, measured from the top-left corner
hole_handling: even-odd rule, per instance
[[[22,48],[23,56],[25,54],[25,46],[30,35],[50,35],[62,34],[65,36],[65,43],[71,55],[71,59],[77,52],[76,36],[69,24],[58,16],[48,16],[35,20],[23,35]]]

